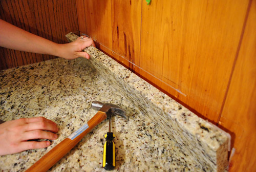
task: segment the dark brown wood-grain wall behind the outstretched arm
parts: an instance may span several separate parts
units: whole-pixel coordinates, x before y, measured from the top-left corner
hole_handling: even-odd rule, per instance
[[[54,42],[67,42],[68,32],[78,33],[75,1],[1,0],[0,18]],[[0,47],[0,70],[56,58]]]

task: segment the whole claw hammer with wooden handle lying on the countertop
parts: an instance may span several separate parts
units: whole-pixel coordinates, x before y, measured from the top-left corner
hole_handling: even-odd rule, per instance
[[[117,105],[111,103],[92,102],[92,108],[98,112],[81,126],[76,132],[53,147],[46,155],[42,156],[26,171],[47,171],[63,156],[65,156],[84,136],[86,136],[96,125],[109,116],[118,115],[126,119],[125,112]]]

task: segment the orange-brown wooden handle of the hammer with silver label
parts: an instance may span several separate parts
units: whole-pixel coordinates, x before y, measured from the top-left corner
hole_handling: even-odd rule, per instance
[[[86,125],[53,147],[26,171],[47,171],[104,119],[106,119],[106,113],[98,111]]]

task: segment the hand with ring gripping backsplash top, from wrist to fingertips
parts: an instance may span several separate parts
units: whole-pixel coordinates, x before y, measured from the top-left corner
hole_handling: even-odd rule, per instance
[[[90,59],[90,55],[82,50],[89,46],[95,47],[95,44],[92,38],[83,36],[78,37],[74,42],[70,42],[69,44],[59,44],[58,46],[59,48],[56,56],[66,59],[74,59],[77,57]]]

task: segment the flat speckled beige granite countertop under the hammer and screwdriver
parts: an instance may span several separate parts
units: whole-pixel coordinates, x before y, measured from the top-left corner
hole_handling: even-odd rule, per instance
[[[61,58],[0,71],[0,119],[43,116],[59,126],[48,148],[0,156],[0,171],[25,171],[96,113],[94,100],[121,106],[128,119],[114,117],[117,171],[203,171],[176,140],[156,127],[130,100],[101,77],[87,59]],[[105,171],[102,166],[108,120],[96,126],[49,171]]]

